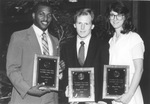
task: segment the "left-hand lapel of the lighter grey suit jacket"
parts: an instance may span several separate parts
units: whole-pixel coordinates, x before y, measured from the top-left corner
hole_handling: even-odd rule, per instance
[[[27,34],[28,34],[29,41],[31,43],[31,47],[32,47],[33,51],[35,51],[36,54],[42,54],[39,42],[37,40],[37,37],[36,37],[36,34],[35,34],[33,28],[30,27],[27,32],[28,32]]]

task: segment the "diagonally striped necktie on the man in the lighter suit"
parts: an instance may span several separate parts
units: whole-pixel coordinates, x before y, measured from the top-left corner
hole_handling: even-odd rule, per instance
[[[43,54],[49,55],[48,42],[45,33],[42,34],[42,48],[43,48]]]

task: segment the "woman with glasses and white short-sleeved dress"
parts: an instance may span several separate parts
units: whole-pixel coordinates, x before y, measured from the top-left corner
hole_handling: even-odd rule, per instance
[[[143,104],[139,86],[143,73],[144,43],[134,32],[128,8],[121,2],[112,3],[107,11],[109,40],[109,64],[129,65],[129,89],[112,101],[112,104]]]

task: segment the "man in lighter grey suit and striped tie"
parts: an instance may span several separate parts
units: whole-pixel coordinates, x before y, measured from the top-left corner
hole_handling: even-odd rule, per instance
[[[33,9],[33,25],[11,36],[7,53],[7,75],[13,84],[10,104],[58,104],[58,94],[50,89],[32,86],[34,56],[58,56],[58,40],[48,33],[52,21],[52,8],[47,2],[39,2]],[[43,48],[43,36],[47,50]],[[46,52],[45,52],[46,51]]]

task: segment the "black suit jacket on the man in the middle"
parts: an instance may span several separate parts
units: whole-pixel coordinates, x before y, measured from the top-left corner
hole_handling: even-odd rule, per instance
[[[94,67],[95,73],[95,101],[102,100],[102,82],[103,82],[103,66],[108,64],[109,44],[104,40],[92,35],[89,43],[87,57],[83,67]],[[62,88],[65,90],[68,85],[68,68],[81,67],[77,59],[76,37],[62,45],[60,57],[66,64],[64,71],[64,80]]]

